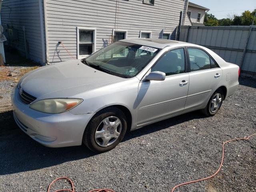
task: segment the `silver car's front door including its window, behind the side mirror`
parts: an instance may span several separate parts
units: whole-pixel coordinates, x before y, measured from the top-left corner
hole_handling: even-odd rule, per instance
[[[189,86],[184,48],[170,50],[151,68],[166,74],[164,81],[144,81],[138,86],[137,124],[184,110]]]

